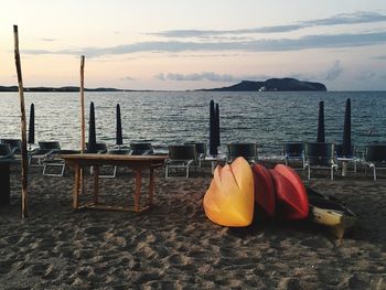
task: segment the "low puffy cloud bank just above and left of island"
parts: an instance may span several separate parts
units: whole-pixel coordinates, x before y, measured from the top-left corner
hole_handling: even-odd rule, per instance
[[[234,76],[228,74],[216,74],[214,72],[202,72],[195,74],[158,74],[154,76],[159,80],[176,80],[176,82],[201,82],[201,80],[210,80],[210,82],[219,82],[219,83],[230,83],[230,82],[240,82],[245,79],[249,80],[261,80],[269,78],[264,75],[240,75]]]

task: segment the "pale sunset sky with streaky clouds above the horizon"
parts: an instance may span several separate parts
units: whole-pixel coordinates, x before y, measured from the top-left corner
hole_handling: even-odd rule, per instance
[[[386,90],[385,0],[12,0],[0,85],[184,90],[294,77]]]

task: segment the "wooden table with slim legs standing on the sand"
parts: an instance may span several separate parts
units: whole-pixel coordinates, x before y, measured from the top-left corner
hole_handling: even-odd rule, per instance
[[[116,210],[116,211],[135,211],[142,212],[151,207],[154,194],[154,169],[163,165],[167,155],[122,155],[122,154],[64,154],[61,155],[65,163],[75,172],[74,190],[73,190],[73,208],[99,208],[99,210]],[[136,173],[136,192],[135,205],[132,206],[110,206],[100,204],[99,195],[99,167],[116,165],[127,167]],[[82,168],[93,167],[94,175],[94,202],[85,205],[79,205]],[[149,200],[148,204],[140,208],[140,195],[142,184],[142,171],[149,170]]]

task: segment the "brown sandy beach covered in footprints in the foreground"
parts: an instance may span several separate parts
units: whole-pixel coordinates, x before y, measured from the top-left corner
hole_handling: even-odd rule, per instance
[[[360,170],[305,182],[357,215],[337,245],[310,223],[211,223],[202,206],[208,167],[190,179],[158,170],[154,206],[141,214],[74,211],[71,171],[30,173],[30,216],[21,219],[18,169],[11,204],[0,207],[0,289],[386,289],[385,176],[374,182]],[[132,173],[120,169],[100,189],[132,202]]]

